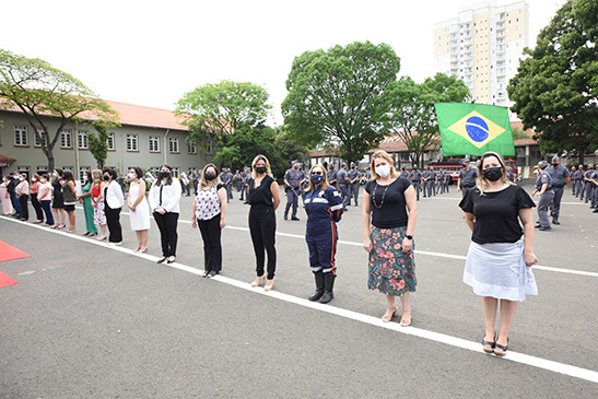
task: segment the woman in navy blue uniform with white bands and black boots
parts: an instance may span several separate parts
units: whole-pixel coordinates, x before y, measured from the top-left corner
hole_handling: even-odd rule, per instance
[[[337,222],[342,214],[342,198],[328,185],[326,169],[314,165],[309,169],[309,187],[306,189],[305,212],[307,228],[305,240],[309,249],[309,266],[316,278],[316,292],[309,301],[326,304],[335,297],[332,287],[337,275],[335,257],[337,255]]]

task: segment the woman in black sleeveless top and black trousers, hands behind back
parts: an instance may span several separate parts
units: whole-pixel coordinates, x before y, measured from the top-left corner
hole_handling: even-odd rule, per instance
[[[270,175],[270,162],[266,156],[256,156],[251,163],[251,169],[247,200],[251,206],[249,209],[249,233],[256,253],[257,272],[251,286],[260,285],[267,278],[263,290],[270,291],[274,286],[274,271],[277,269],[277,248],[274,247],[277,214],[274,211],[280,204],[280,188]],[[265,250],[268,253],[268,274],[263,272]]]

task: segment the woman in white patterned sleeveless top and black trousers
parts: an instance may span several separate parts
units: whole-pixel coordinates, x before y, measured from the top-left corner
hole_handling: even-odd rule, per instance
[[[222,228],[226,226],[226,188],[218,177],[214,164],[203,167],[199,190],[191,209],[191,226],[199,225],[203,239],[203,277],[214,277],[222,270]]]

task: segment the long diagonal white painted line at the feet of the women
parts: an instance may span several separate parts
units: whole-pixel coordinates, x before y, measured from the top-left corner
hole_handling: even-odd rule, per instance
[[[54,234],[61,234],[61,235],[65,235],[67,237],[79,239],[79,240],[82,240],[82,242],[85,242],[85,243],[89,243],[89,244],[99,245],[99,246],[103,246],[107,249],[118,250],[118,251],[121,251],[121,253],[125,253],[125,254],[128,254],[128,255],[137,256],[137,257],[140,257],[140,258],[146,259],[146,260],[151,260],[153,262],[155,262],[157,259],[160,259],[159,257],[153,256],[153,255],[138,254],[138,253],[133,253],[131,249],[128,249],[128,248],[107,246],[106,244],[104,244],[102,242],[85,238],[83,236],[77,236],[77,235],[73,235],[71,233],[66,233],[66,232],[56,231],[56,230],[49,230],[47,227],[44,227],[44,226],[40,226],[40,225],[37,225],[37,224],[31,224],[31,223],[25,223],[25,222],[12,220],[12,218],[5,218],[5,216],[1,216],[1,218],[5,219],[5,220],[10,220],[10,221],[15,222],[15,223],[22,223],[22,224],[24,224],[26,226],[30,226],[30,227],[39,228],[39,230],[43,230],[43,231],[46,231],[46,232],[49,232],[49,233],[54,233]],[[188,222],[188,223],[190,223],[190,222]],[[246,230],[244,227],[234,227],[234,228],[235,230]],[[289,235],[289,236],[293,236],[293,235]],[[171,263],[171,265],[163,263],[163,266],[171,267],[173,269],[178,269],[178,270],[181,270],[181,271],[186,271],[186,272],[189,272],[189,273],[192,273],[192,274],[196,274],[196,275],[201,275],[201,273],[202,273],[202,270],[192,268],[192,267],[187,266],[187,265],[178,263],[178,262],[174,262],[174,263]],[[419,337],[419,338],[427,339],[427,340],[431,340],[431,341],[445,343],[447,345],[466,349],[466,350],[476,352],[480,355],[488,355],[483,351],[481,351],[479,342],[468,341],[468,340],[465,340],[462,338],[452,337],[452,336],[447,336],[445,333],[424,330],[424,329],[417,328],[417,327],[401,327],[398,322],[384,322],[378,317],[364,315],[364,314],[361,314],[361,313],[357,313],[357,312],[348,310],[348,309],[343,309],[343,308],[340,308],[340,307],[335,307],[335,306],[331,306],[331,305],[324,305],[324,304],[320,304],[320,303],[310,302],[310,301],[300,298],[300,297],[296,297],[296,296],[293,296],[293,295],[284,294],[282,292],[278,292],[278,291],[263,291],[262,289],[253,287],[247,282],[234,280],[234,279],[231,279],[231,278],[227,278],[227,277],[224,277],[224,275],[214,275],[211,279],[216,280],[216,281],[219,281],[221,283],[224,283],[224,284],[236,286],[236,287],[245,290],[245,291],[250,291],[255,294],[271,296],[273,298],[284,301],[284,302],[288,302],[288,303],[292,303],[292,304],[295,304],[295,305],[298,305],[298,306],[307,307],[307,308],[319,310],[319,312],[325,312],[325,313],[328,313],[328,314],[331,314],[331,315],[344,317],[344,318],[352,319],[352,320],[355,320],[355,321],[361,321],[361,322],[368,324],[368,325],[372,325],[372,326],[375,326],[375,327],[386,328],[388,330],[404,333],[404,335],[408,335],[408,336]],[[520,363],[520,364],[526,364],[526,365],[533,366],[533,367],[537,367],[537,368],[542,368],[542,369],[546,369],[546,371],[549,371],[549,372],[564,374],[564,375],[568,375],[568,376],[574,377],[574,378],[579,378],[579,379],[588,380],[590,383],[598,384],[598,372],[595,372],[595,371],[591,371],[591,369],[588,369],[588,368],[582,368],[582,367],[573,366],[573,365],[570,365],[570,364],[554,362],[554,361],[550,361],[550,360],[547,360],[547,359],[537,357],[537,356],[528,355],[528,354],[525,354],[525,353],[518,353],[518,352],[514,352],[514,351],[508,351],[508,354],[505,357],[502,357],[501,360],[507,360],[507,361],[512,361],[512,362],[516,362],[516,363]]]

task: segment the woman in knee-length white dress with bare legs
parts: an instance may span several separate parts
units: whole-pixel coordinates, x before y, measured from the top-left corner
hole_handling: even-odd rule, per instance
[[[131,167],[127,176],[129,178],[129,196],[127,206],[130,210],[131,230],[137,235],[137,247],[133,253],[144,253],[148,250],[148,239],[150,237],[150,206],[145,199],[145,181],[143,180],[143,171],[139,166]]]

